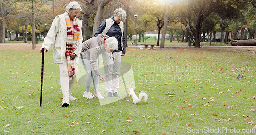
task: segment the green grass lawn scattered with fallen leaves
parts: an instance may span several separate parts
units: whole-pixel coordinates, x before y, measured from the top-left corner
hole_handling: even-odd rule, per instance
[[[122,62],[132,65],[135,93],[146,92],[147,102],[135,105],[127,96],[101,106],[75,84],[72,95],[79,100],[63,108],[59,68],[49,51],[40,108],[41,54],[18,50],[0,48],[0,134],[255,134],[255,55],[128,47]]]

